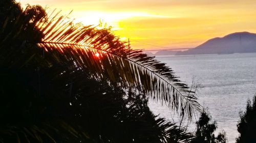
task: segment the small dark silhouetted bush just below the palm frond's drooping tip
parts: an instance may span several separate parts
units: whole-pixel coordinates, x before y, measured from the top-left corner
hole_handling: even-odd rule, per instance
[[[197,121],[196,136],[191,143],[225,143],[227,141],[225,132],[219,133],[216,137],[214,132],[217,129],[217,123],[210,123],[211,117],[205,111],[201,113]]]

